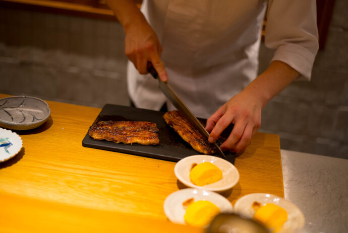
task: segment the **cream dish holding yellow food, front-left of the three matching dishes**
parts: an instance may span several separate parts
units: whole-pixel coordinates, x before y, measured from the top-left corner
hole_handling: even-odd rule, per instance
[[[210,201],[215,204],[222,213],[231,213],[233,211],[232,204],[218,193],[202,189],[181,189],[171,193],[164,200],[164,213],[171,222],[186,224],[184,220],[186,209],[183,202],[191,198],[193,198],[193,201]]]

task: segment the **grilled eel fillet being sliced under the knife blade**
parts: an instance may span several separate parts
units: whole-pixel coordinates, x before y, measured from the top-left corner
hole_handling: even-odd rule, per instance
[[[172,127],[195,150],[204,154],[214,154],[215,148],[191,124],[180,115],[179,111],[166,112],[165,122]],[[222,138],[220,138],[221,140]]]

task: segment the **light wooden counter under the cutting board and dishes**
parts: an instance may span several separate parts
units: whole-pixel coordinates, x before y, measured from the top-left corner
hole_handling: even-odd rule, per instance
[[[0,94],[4,97],[7,95]],[[199,231],[172,224],[164,214],[164,199],[184,188],[175,177],[174,162],[83,147],[82,139],[101,109],[47,103],[51,109],[48,121],[33,130],[16,131],[23,149],[0,164],[0,221],[6,219],[1,223],[3,229],[21,231],[22,226],[15,222],[34,227],[44,218],[48,220],[42,227],[52,223],[57,229],[64,227],[58,222],[69,221],[67,225],[76,224],[77,228],[104,222],[106,228],[115,230],[113,224],[126,227],[134,222],[132,226],[138,228],[147,224],[149,232],[157,232],[156,224],[168,227],[167,232],[169,228]],[[248,149],[236,158],[235,166],[240,181],[232,191],[223,193],[231,203],[255,192],[283,196],[278,135],[257,133]],[[134,219],[140,223],[135,224]]]

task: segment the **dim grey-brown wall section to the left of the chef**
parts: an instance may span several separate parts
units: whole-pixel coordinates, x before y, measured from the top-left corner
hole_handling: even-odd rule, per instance
[[[102,107],[128,105],[117,22],[0,8],[0,92]]]

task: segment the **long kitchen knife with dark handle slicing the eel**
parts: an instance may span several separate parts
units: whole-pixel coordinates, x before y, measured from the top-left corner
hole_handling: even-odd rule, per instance
[[[159,77],[158,73],[153,67],[153,65],[148,65],[149,73],[158,80],[158,87],[163,92],[163,94],[170,100],[170,102],[179,110],[179,112],[185,117],[185,119],[194,126],[198,132],[206,137],[207,141],[209,138],[208,131],[203,127],[201,122],[193,115],[193,113],[190,111],[190,109],[185,105],[185,103],[179,98],[179,96],[170,88],[170,86],[167,83],[164,83]],[[216,141],[211,143],[216,151],[217,154],[222,157],[223,159],[227,160],[225,157],[225,154],[222,152],[220,147],[217,145]]]

